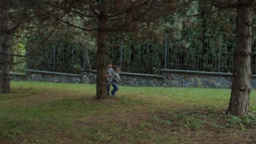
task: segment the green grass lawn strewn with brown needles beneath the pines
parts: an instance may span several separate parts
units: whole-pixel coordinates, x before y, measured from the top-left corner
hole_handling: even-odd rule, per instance
[[[230,89],[120,86],[96,100],[96,85],[11,81],[0,94],[0,141],[9,144],[256,143],[250,114],[226,115]]]

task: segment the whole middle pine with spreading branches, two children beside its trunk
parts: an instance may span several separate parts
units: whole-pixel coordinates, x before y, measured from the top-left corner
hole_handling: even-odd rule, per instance
[[[106,99],[106,48],[110,32],[130,31],[139,33],[160,17],[173,13],[175,7],[181,8],[183,0],[86,0],[74,3],[70,0],[49,0],[47,5],[68,13],[69,17],[82,21],[80,24],[73,20],[55,17],[61,23],[89,32],[97,32],[97,99]],[[57,12],[60,13],[60,12]]]

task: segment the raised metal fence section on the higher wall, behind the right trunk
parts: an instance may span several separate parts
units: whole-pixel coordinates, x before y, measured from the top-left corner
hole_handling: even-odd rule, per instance
[[[185,37],[182,40],[165,38],[166,69],[183,69],[232,73],[235,37]],[[256,47],[252,46],[252,53]],[[256,57],[251,59],[251,70],[256,74]]]

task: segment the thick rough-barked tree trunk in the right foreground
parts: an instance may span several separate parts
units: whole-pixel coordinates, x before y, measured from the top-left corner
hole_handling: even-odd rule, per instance
[[[248,2],[249,0],[238,0],[235,65],[232,92],[227,110],[232,115],[248,114],[249,107],[253,7]]]

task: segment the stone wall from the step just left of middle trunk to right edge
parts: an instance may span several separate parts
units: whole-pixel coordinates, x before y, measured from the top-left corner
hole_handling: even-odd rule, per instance
[[[189,70],[161,69],[162,75],[120,72],[120,85],[165,86],[165,87],[209,87],[230,88],[232,74]],[[96,83],[96,71],[82,71],[82,83]],[[251,86],[256,88],[256,75],[251,77]]]

